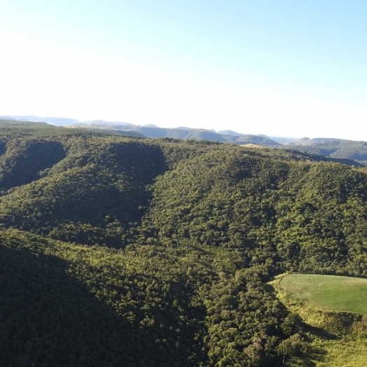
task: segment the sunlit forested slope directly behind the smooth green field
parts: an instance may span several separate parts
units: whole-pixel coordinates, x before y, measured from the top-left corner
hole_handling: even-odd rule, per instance
[[[353,275],[367,235],[366,174],[289,158],[219,146],[182,161],[154,185],[146,238],[238,249],[247,266]]]

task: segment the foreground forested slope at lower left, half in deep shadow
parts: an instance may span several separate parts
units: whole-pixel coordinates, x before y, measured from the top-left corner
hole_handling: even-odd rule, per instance
[[[208,365],[204,309],[164,256],[19,230],[0,242],[1,366]]]

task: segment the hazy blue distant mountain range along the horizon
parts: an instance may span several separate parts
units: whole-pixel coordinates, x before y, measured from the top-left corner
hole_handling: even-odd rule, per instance
[[[166,128],[156,125],[134,125],[120,121],[80,121],[74,118],[59,117],[39,117],[39,116],[0,116],[0,119],[32,121],[38,123],[48,123],[55,126],[68,128],[78,127],[96,132],[106,132],[109,134],[123,134],[132,137],[148,138],[171,138],[171,139],[198,139],[219,141],[233,144],[255,144],[258,146],[268,146],[271,148],[286,148],[305,153],[315,153],[325,155],[335,160],[349,159],[367,164],[367,142],[353,141],[335,138],[314,138],[302,139],[290,137],[268,137],[266,135],[240,134],[232,130],[193,129],[190,127]]]

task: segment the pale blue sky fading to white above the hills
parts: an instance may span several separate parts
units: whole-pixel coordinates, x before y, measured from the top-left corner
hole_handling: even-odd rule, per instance
[[[366,0],[0,0],[0,115],[367,141]]]

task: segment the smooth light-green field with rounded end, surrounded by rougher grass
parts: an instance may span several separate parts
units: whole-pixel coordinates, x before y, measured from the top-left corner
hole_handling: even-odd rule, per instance
[[[288,274],[282,278],[280,286],[322,310],[367,314],[367,279]]]

